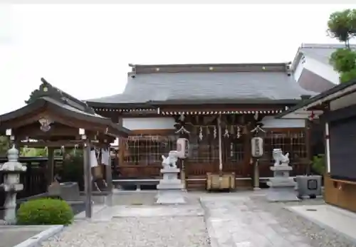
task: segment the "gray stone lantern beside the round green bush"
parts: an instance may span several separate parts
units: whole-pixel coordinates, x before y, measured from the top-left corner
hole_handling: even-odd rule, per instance
[[[8,151],[9,161],[0,165],[0,171],[4,176],[4,184],[1,184],[5,193],[5,216],[7,224],[16,223],[16,194],[23,190],[23,184],[20,184],[20,173],[26,172],[27,167],[23,166],[19,159],[19,150],[13,145]]]

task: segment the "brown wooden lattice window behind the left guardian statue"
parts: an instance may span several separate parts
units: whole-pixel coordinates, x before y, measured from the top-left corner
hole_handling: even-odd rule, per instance
[[[162,162],[162,154],[177,149],[175,135],[133,135],[125,143],[124,161],[130,164],[155,164]]]

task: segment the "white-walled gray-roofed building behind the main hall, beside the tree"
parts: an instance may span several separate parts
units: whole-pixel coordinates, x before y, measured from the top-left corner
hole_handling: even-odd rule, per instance
[[[293,77],[306,90],[321,93],[339,84],[339,73],[330,64],[331,54],[344,44],[303,43],[294,58]],[[351,45],[356,49],[356,45]]]

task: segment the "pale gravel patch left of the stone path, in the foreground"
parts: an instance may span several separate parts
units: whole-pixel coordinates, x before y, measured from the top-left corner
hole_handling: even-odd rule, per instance
[[[124,217],[110,222],[79,221],[43,247],[209,247],[202,216]]]

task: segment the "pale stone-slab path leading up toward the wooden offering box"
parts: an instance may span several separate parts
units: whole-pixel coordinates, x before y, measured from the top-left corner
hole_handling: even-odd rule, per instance
[[[280,232],[278,221],[261,209],[254,209],[248,196],[216,200],[202,196],[212,247],[310,247],[292,231]]]

